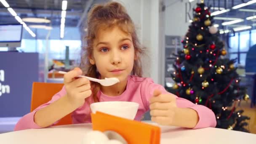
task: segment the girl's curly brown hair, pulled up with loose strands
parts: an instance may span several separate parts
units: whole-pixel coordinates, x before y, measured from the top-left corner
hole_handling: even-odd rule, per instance
[[[116,26],[119,27],[123,32],[130,34],[132,37],[136,59],[134,60],[131,75],[141,77],[141,55],[144,54],[144,48],[142,48],[139,43],[136,29],[131,17],[128,15],[123,5],[117,2],[93,5],[88,13],[88,31],[86,37],[84,38],[84,40],[87,42],[87,46],[83,47],[80,64],[83,75],[99,78],[100,74],[97,72],[96,65],[92,65],[89,62],[89,58],[92,56],[93,52],[93,41],[95,40],[99,30],[109,29]],[[93,101],[98,102],[99,99],[97,98],[97,93],[100,89],[99,83],[91,82],[91,88]]]

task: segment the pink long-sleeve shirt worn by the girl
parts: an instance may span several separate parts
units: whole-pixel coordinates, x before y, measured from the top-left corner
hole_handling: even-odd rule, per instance
[[[107,96],[99,91],[98,98],[99,101],[133,101],[139,103],[139,109],[136,114],[135,120],[141,120],[141,117],[144,115],[144,113],[149,110],[149,99],[152,97],[153,91],[155,89],[159,89],[160,91],[162,91],[162,93],[168,93],[162,85],[155,84],[151,78],[130,75],[128,76],[126,90],[120,96]],[[66,90],[63,87],[61,91],[59,91],[52,97],[51,101],[37,107],[37,109],[35,109],[33,112],[24,115],[16,124],[14,131],[29,128],[41,128],[34,122],[35,112],[60,99],[65,94]],[[92,99],[89,102],[92,102]],[[199,121],[194,129],[216,126],[216,118],[211,109],[208,109],[207,107],[204,107],[202,105],[194,104],[187,99],[182,99],[177,96],[176,104],[177,107],[192,108],[197,112],[199,116]],[[72,112],[72,123],[91,123],[90,113],[91,111],[88,103],[85,102],[83,106],[77,108],[74,112]]]

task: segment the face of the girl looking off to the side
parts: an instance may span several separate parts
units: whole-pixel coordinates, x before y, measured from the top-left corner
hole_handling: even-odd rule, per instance
[[[123,81],[131,74],[134,55],[131,34],[113,27],[99,31],[93,42],[90,63],[96,64],[101,79],[117,77]]]

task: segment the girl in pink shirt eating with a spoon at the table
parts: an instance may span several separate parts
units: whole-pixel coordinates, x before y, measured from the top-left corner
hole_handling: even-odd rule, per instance
[[[88,13],[87,47],[80,68],[64,75],[64,87],[51,101],[22,117],[15,131],[46,128],[72,112],[72,122],[91,123],[89,104],[98,101],[139,103],[135,120],[150,110],[152,121],[185,128],[215,127],[214,113],[165,91],[151,78],[141,77],[141,54],[135,27],[125,8],[116,2],[95,5]],[[117,77],[105,87],[78,75]]]

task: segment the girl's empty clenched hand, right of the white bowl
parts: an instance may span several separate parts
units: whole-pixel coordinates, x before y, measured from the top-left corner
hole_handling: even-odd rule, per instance
[[[155,90],[149,100],[151,120],[160,125],[173,125],[177,112],[176,97],[171,94],[162,94]]]

